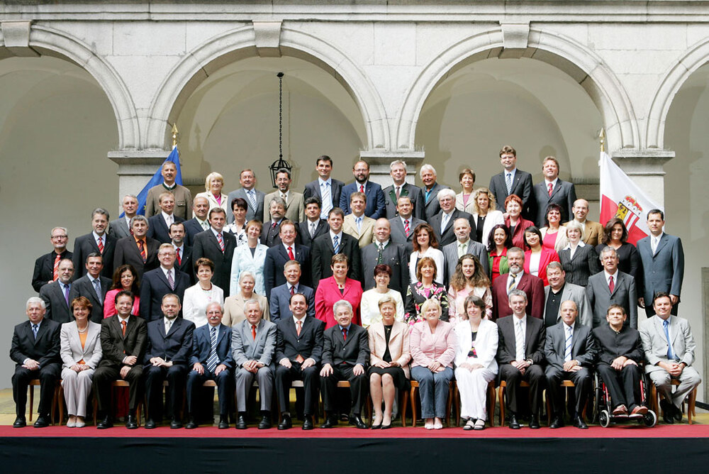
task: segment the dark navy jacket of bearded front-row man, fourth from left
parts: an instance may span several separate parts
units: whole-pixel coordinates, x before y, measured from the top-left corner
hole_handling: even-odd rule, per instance
[[[175,318],[167,334],[165,334],[162,317],[150,321],[147,324],[147,344],[143,363],[149,365],[151,358],[162,357],[167,362],[186,365],[192,356],[192,336],[194,336],[192,321]]]

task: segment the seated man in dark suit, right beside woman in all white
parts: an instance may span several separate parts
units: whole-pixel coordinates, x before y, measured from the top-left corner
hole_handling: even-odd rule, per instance
[[[507,383],[507,404],[510,410],[510,428],[519,429],[517,415],[523,408],[519,395],[520,382],[530,384],[532,399],[532,419],[530,428],[537,429],[539,411],[542,407],[544,391],[544,343],[546,331],[544,321],[527,316],[527,294],[522,290],[512,290],[508,299],[512,309],[510,316],[497,320],[498,348],[497,362],[500,365],[499,380]]]

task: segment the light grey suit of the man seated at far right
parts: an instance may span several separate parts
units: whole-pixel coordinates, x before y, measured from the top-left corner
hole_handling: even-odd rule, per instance
[[[647,373],[657,390],[664,395],[666,400],[671,400],[675,407],[681,407],[684,397],[699,385],[702,380],[697,371],[691,366],[694,362],[694,336],[689,326],[689,321],[678,316],[669,316],[669,338],[672,341],[672,352],[674,360],[667,358],[667,338],[664,334],[663,320],[657,316],[652,316],[640,326],[640,338],[642,339],[642,349],[645,351]],[[661,368],[659,362],[685,363],[687,366],[679,375],[679,385],[672,393],[671,377],[669,372]]]

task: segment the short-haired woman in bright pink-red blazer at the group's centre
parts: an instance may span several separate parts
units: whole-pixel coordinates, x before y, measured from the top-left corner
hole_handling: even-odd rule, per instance
[[[333,304],[345,299],[352,304],[354,324],[359,322],[359,302],[362,301],[362,284],[352,278],[347,278],[349,268],[347,255],[337,253],[330,261],[333,276],[320,280],[318,290],[315,292],[315,317],[325,321],[325,329],[337,324],[333,314]]]

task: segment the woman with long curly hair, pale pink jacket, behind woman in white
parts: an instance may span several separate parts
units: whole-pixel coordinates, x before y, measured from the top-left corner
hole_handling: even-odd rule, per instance
[[[485,275],[480,260],[475,255],[467,253],[458,259],[455,272],[450,279],[448,288],[448,322],[457,324],[458,321],[467,319],[463,304],[468,296],[474,294],[484,300],[487,309],[483,317],[490,319],[492,316],[492,292],[490,279]]]

